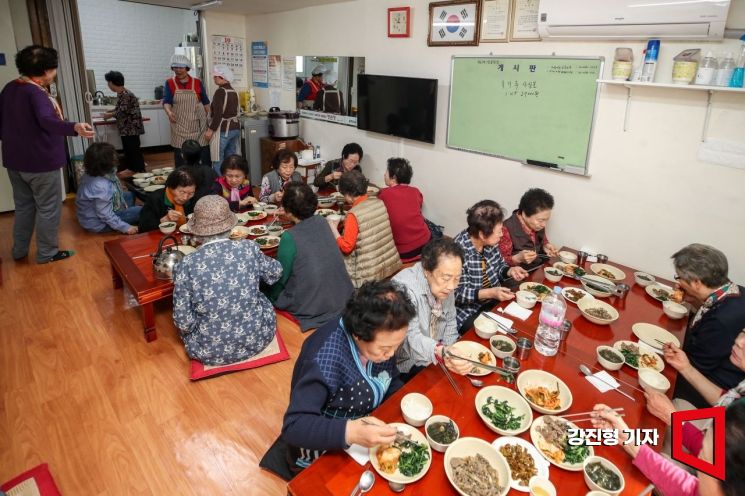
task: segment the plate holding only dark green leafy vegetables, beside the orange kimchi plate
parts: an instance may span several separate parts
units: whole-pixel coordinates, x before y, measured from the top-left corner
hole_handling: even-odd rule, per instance
[[[503,436],[517,436],[527,431],[533,421],[528,402],[512,389],[502,386],[479,389],[476,412],[489,429]]]

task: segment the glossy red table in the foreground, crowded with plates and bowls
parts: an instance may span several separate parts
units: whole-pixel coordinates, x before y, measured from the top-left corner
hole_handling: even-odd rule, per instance
[[[558,354],[554,357],[545,357],[533,349],[528,359],[521,361],[521,371],[541,369],[561,378],[569,386],[573,395],[572,405],[568,411],[563,412],[564,414],[589,411],[597,403],[605,403],[614,408],[623,407],[626,414],[624,419],[630,428],[657,430],[659,438],[655,449],[659,450],[665,435],[665,425],[647,412],[644,395],[625,384],[621,384],[621,389],[631,394],[634,401],[615,391],[600,393],[582,375],[579,371],[579,366],[586,364],[593,371],[602,370],[597,363],[596,347],[601,344],[612,345],[621,339],[638,341],[631,329],[631,326],[637,322],[658,325],[667,329],[682,342],[685,333],[685,320],[669,319],[662,312],[661,303],[648,296],[644,288],[633,284],[633,272],[635,269],[614,263],[612,260],[609,264],[623,270],[626,278],[619,282],[625,282],[631,286],[631,290],[625,299],[616,297],[604,299],[619,310],[619,319],[611,325],[593,324],[581,315],[576,305],[567,302],[566,318],[572,322],[572,330],[567,339],[561,342]],[[585,269],[588,271],[589,265],[589,263],[585,265]],[[579,281],[567,277],[564,277],[558,283],[550,283],[543,279],[543,271],[537,270],[531,273],[527,280],[542,282],[549,287],[555,285],[562,287],[581,287]],[[657,278],[657,280],[669,283],[669,281],[661,278]],[[504,302],[497,305],[495,307],[497,313],[499,313],[499,309],[506,307],[507,304],[508,302]],[[533,340],[535,330],[538,326],[539,311],[540,304],[536,305],[531,316],[525,321],[505,315],[505,317],[514,321],[513,327],[518,331],[516,338],[527,337],[531,341]],[[478,337],[473,329],[468,331],[461,339],[476,341],[484,346],[489,346],[488,341]],[[620,381],[624,381],[637,388],[639,387],[636,371],[627,365],[624,365],[620,371],[609,371],[608,373]],[[672,387],[668,391],[668,395],[670,396],[675,387],[676,372],[672,367],[666,366],[663,374],[672,384]],[[456,422],[460,429],[461,437],[477,437],[492,442],[499,435],[492,432],[476,412],[475,397],[479,389],[472,386],[465,377],[458,375],[453,375],[453,377],[463,393],[462,396],[458,396],[455,393],[439,368],[430,366],[417,374],[401,390],[388,398],[372,415],[385,422],[403,422],[400,409],[401,398],[407,393],[419,392],[425,394],[432,401],[434,406],[433,414],[446,415]],[[486,377],[481,377],[481,379],[484,379],[486,385],[501,385],[515,389],[514,384],[507,384],[496,374],[490,374]],[[540,413],[533,411],[533,419],[540,415]],[[580,427],[589,427],[589,422],[585,422]],[[419,429],[423,432],[423,428],[420,427]],[[530,442],[529,432],[528,430],[518,437]],[[594,451],[595,455],[607,458],[623,472],[625,478],[623,494],[637,495],[648,486],[649,481],[632,465],[631,457],[626,454],[622,447],[594,446]],[[422,479],[407,486],[404,494],[457,494],[445,475],[443,457],[444,455],[442,453],[433,450],[429,471]],[[359,481],[362,472],[368,468],[373,470],[369,462],[367,466],[363,467],[344,452],[329,452],[290,481],[288,492],[293,496],[350,494]],[[551,465],[549,479],[557,488],[560,496],[584,495],[589,491],[581,471],[571,472]],[[371,491],[366,494],[391,494],[391,490],[386,480],[376,474],[376,482]],[[508,494],[519,495],[525,493],[511,489]]]

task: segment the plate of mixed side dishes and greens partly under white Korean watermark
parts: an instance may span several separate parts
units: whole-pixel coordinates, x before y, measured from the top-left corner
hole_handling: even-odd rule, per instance
[[[579,438],[576,424],[553,415],[538,417],[530,426],[530,440],[549,463],[571,472],[580,472],[585,460],[595,455],[592,446],[574,446]]]

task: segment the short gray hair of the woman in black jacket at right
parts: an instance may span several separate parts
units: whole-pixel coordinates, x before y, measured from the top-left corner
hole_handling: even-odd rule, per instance
[[[673,256],[678,276],[686,281],[699,280],[709,288],[727,283],[727,257],[713,246],[693,243],[678,250]]]

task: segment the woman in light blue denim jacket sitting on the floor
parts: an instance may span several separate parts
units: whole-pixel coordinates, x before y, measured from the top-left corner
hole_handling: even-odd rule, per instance
[[[116,176],[118,158],[109,143],[93,143],[85,151],[75,207],[80,226],[91,232],[119,231],[137,234],[141,206],[134,195],[123,191]]]

